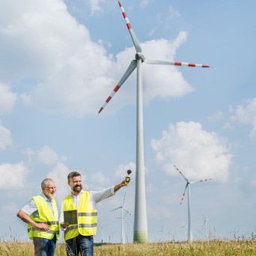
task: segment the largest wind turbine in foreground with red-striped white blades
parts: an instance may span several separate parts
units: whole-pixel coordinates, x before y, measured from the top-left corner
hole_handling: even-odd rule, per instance
[[[100,108],[99,113],[104,109],[109,100],[112,99],[114,94],[121,88],[121,85],[127,80],[129,75],[137,67],[137,126],[136,126],[136,178],[135,178],[135,216],[134,216],[134,242],[147,242],[147,209],[146,209],[146,192],[145,192],[145,177],[144,177],[144,137],[143,137],[143,111],[142,111],[142,62],[146,64],[162,64],[162,65],[175,65],[187,67],[209,67],[201,64],[185,63],[180,61],[156,61],[150,60],[142,55],[141,46],[129,22],[127,13],[121,1],[118,1],[121,11],[123,13],[129,34],[132,37],[132,42],[135,46],[135,60],[129,64],[127,71],[122,76],[118,85],[115,86],[112,93],[107,98],[106,102]]]

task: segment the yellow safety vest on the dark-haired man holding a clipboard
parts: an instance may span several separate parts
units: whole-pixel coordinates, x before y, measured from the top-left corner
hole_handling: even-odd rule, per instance
[[[75,204],[71,195],[64,198],[64,210],[75,210]],[[69,225],[64,230],[64,240],[83,236],[93,236],[97,232],[97,210],[91,208],[90,192],[82,192],[77,209],[78,223]]]

